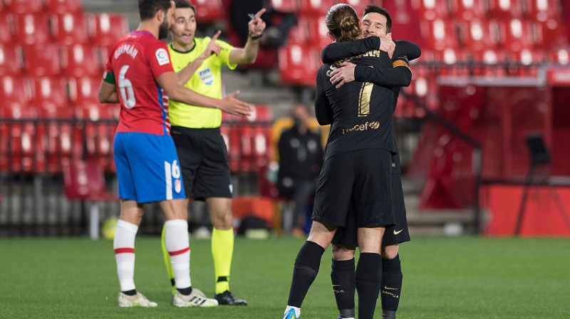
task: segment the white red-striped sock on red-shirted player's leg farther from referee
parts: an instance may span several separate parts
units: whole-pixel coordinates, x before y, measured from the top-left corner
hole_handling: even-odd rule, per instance
[[[138,226],[119,219],[113,240],[120,291],[135,289],[135,236]]]

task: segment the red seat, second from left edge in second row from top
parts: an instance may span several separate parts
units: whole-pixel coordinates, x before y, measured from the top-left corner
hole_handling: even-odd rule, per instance
[[[42,12],[14,15],[14,39],[22,45],[39,46],[50,42],[48,16]]]

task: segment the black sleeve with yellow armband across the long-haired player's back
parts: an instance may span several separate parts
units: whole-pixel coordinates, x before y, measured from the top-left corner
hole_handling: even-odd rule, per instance
[[[394,61],[393,68],[371,68],[356,66],[354,79],[360,82],[372,82],[382,86],[409,86],[412,83],[412,70],[405,58]]]

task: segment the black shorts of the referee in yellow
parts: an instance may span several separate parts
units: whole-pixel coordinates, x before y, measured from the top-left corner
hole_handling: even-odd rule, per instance
[[[170,135],[182,169],[186,197],[232,198],[227,147],[219,128],[172,126]]]

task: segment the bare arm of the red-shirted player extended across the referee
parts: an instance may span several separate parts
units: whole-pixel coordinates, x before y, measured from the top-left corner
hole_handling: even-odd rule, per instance
[[[162,73],[157,78],[157,82],[158,85],[166,91],[166,94],[171,100],[190,105],[200,105],[205,108],[219,108],[223,112],[232,115],[252,115],[253,106],[236,98],[237,95],[239,95],[239,91],[229,94],[221,100],[209,98],[182,86],[178,82],[177,75],[174,72]]]

